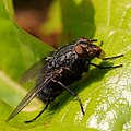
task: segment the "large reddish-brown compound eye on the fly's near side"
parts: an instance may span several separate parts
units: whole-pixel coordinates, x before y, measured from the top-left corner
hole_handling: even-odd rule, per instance
[[[84,47],[82,47],[81,45],[76,45],[74,47],[74,50],[79,57],[85,57],[87,55],[86,49]]]

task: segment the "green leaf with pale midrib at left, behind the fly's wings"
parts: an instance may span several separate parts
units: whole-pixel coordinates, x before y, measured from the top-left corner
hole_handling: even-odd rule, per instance
[[[20,84],[20,78],[25,72],[25,70],[27,70],[32,64],[34,64],[34,62],[38,61],[43,57],[46,57],[49,53],[49,51],[53,50],[47,44],[43,44],[40,40],[26,34],[14,23],[13,9],[11,7],[11,1],[0,1],[1,131],[14,131],[23,128],[21,124],[10,126],[10,123],[5,122],[13,108],[21,102],[21,99],[27,93],[27,88],[24,88],[24,86]],[[40,105],[41,104],[35,100],[28,108],[26,108],[26,110],[36,110],[36,108],[38,110]],[[24,114],[24,116],[22,117],[25,118],[26,114]],[[40,129],[40,126],[38,128],[36,127],[36,129]]]

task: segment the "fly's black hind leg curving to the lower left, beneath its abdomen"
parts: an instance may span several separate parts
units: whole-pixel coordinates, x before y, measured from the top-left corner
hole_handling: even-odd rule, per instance
[[[25,121],[25,123],[33,122],[33,121],[36,120],[38,117],[40,117],[40,115],[47,109],[47,107],[48,107],[49,104],[50,104],[50,90],[49,90],[48,99],[47,99],[47,103],[46,103],[44,109],[43,109],[35,118],[33,118],[32,120]]]

